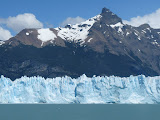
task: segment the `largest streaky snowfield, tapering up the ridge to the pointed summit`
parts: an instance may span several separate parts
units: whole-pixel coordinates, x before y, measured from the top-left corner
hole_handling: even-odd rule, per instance
[[[83,44],[88,37],[89,29],[95,22],[99,21],[101,17],[101,15],[97,15],[81,24],[70,25],[70,27],[67,28],[56,28],[58,36],[67,41],[80,42]]]

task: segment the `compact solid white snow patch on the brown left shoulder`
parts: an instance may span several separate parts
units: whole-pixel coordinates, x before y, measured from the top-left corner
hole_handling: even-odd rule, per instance
[[[42,41],[42,46],[44,42],[55,40],[57,36],[49,28],[47,29],[38,29],[38,39]]]

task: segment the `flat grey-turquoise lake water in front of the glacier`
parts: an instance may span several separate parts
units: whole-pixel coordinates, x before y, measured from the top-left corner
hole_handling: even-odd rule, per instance
[[[160,105],[0,105],[0,120],[160,120]]]

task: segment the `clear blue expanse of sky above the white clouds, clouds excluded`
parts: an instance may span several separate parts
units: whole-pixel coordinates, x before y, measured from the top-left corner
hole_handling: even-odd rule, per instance
[[[67,17],[95,16],[103,7],[128,20],[152,13],[159,5],[159,0],[1,0],[0,18],[32,13],[41,22],[57,26]]]

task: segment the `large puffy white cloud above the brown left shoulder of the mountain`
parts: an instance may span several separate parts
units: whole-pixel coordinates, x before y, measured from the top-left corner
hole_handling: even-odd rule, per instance
[[[30,13],[19,14],[16,17],[0,19],[1,24],[5,24],[15,32],[19,32],[25,28],[43,28],[43,24],[36,19],[35,15]]]

